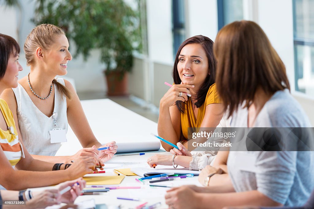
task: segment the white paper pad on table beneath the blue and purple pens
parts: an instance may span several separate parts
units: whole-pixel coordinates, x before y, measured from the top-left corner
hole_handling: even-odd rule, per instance
[[[170,168],[170,169],[155,169],[155,168],[131,168],[131,172],[136,175],[146,177],[164,173],[174,173],[174,174],[194,174],[199,175],[200,171],[198,170],[189,170],[188,168]]]

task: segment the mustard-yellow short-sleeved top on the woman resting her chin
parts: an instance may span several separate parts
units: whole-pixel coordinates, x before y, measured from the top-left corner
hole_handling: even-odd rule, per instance
[[[182,110],[183,110],[183,113],[181,113],[181,133],[182,134],[181,134],[180,140],[188,139],[187,130],[189,127],[198,128],[201,126],[203,118],[205,116],[206,106],[213,103],[222,103],[217,93],[216,83],[214,83],[213,85],[209,87],[205,102],[202,104],[201,107],[198,108],[197,118],[195,118],[195,114],[193,111],[192,100],[189,98],[186,102],[184,103],[182,102]]]

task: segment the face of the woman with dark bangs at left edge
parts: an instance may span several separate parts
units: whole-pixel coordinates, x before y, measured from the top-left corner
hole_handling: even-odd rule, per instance
[[[15,53],[11,53],[7,69],[4,76],[0,79],[0,82],[5,88],[16,88],[18,86],[19,71],[22,70],[23,68],[19,64],[19,55],[15,56]]]

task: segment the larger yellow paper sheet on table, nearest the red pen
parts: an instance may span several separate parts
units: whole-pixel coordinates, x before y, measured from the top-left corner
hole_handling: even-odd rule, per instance
[[[124,175],[86,176],[83,179],[86,181],[86,185],[110,185],[120,184],[124,177]]]

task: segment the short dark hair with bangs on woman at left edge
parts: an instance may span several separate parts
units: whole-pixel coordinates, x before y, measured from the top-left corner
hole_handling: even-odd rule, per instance
[[[11,54],[19,55],[20,47],[11,36],[0,34],[0,78],[2,78],[7,70],[8,61]]]

